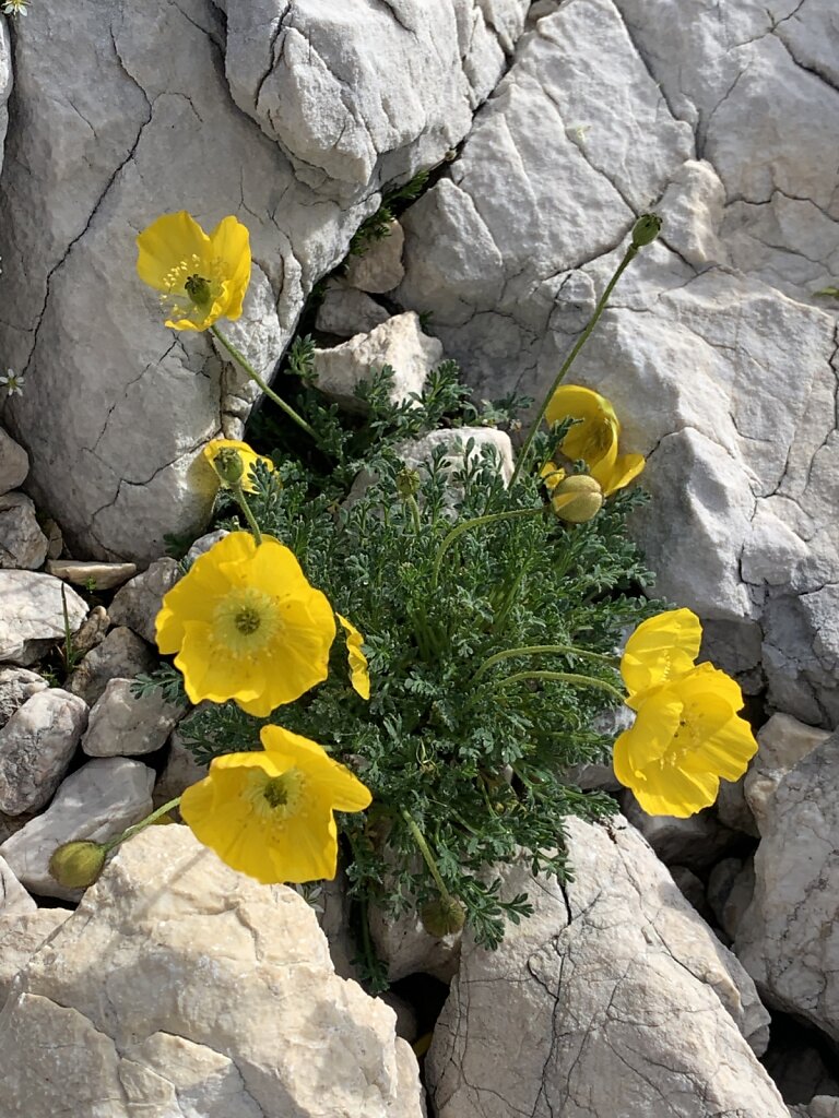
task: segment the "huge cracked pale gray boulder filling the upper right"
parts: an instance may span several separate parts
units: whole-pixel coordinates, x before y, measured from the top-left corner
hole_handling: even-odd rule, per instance
[[[573,380],[649,457],[637,532],[654,593],[726,626],[725,666],[756,672],[754,690],[762,671],[772,707],[835,726],[837,304],[812,292],[839,267],[836,8],[539,10],[449,174],[400,219],[399,301],[480,395],[538,396],[656,208],[662,236]]]

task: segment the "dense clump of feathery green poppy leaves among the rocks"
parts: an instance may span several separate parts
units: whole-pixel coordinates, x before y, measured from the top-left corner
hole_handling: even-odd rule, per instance
[[[385,368],[359,387],[366,414],[350,419],[310,383],[307,345],[294,358],[295,406],[328,456],[275,451],[275,473],[256,466],[249,503],[262,531],[287,544],[311,582],[365,634],[371,698],[365,702],[350,686],[339,631],[328,680],[296,702],[264,721],[234,703],[208,707],[181,732],[205,764],[258,749],[266,722],[319,741],[374,795],[366,813],[340,819],[362,911],[375,901],[398,913],[439,894],[407,811],[477,939],[494,947],[505,922],[530,909],[526,897],[502,893],[491,868],[524,849],[535,871],[562,879],[564,818],[600,818],[614,807],[564,774],[607,756],[611,740],[594,727],[616,697],[596,682],[505,679],[548,667],[620,685],[610,657],[621,632],[657,609],[638,594],[649,575],[625,533],[626,514],[643,496],[618,493],[591,522],[565,525],[546,505],[538,476],[507,489],[493,454],[479,453],[473,440],[460,455],[439,446],[406,486],[399,455],[406,440],[441,428],[455,436],[464,425],[512,426],[522,400],[477,406],[445,362],[421,396],[392,404],[393,370]],[[548,457],[560,435],[558,428],[538,436],[536,461]],[[347,500],[361,470],[366,487],[357,483]],[[463,531],[436,563],[454,524],[499,514]],[[479,674],[500,651],[546,644],[582,651],[521,655]],[[175,694],[171,676],[163,684]],[[369,953],[367,959],[375,978]]]

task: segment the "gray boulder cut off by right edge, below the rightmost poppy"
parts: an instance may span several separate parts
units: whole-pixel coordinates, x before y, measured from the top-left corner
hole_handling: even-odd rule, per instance
[[[839,733],[779,784],[761,817],[736,951],[773,1005],[839,1040]]]

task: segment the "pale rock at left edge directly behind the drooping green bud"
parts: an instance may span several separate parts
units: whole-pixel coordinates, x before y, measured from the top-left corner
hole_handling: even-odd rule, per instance
[[[103,757],[72,773],[43,815],[0,844],[0,855],[27,889],[77,901],[82,889],[59,885],[49,872],[56,846],[72,839],[113,839],[151,812],[154,770],[125,757]]]

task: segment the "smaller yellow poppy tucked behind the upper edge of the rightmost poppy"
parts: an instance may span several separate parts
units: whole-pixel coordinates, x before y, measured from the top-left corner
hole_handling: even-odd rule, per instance
[[[621,657],[621,675],[629,691],[626,705],[638,710],[642,692],[695,667],[701,641],[701,622],[692,609],[668,609],[641,622]]]

